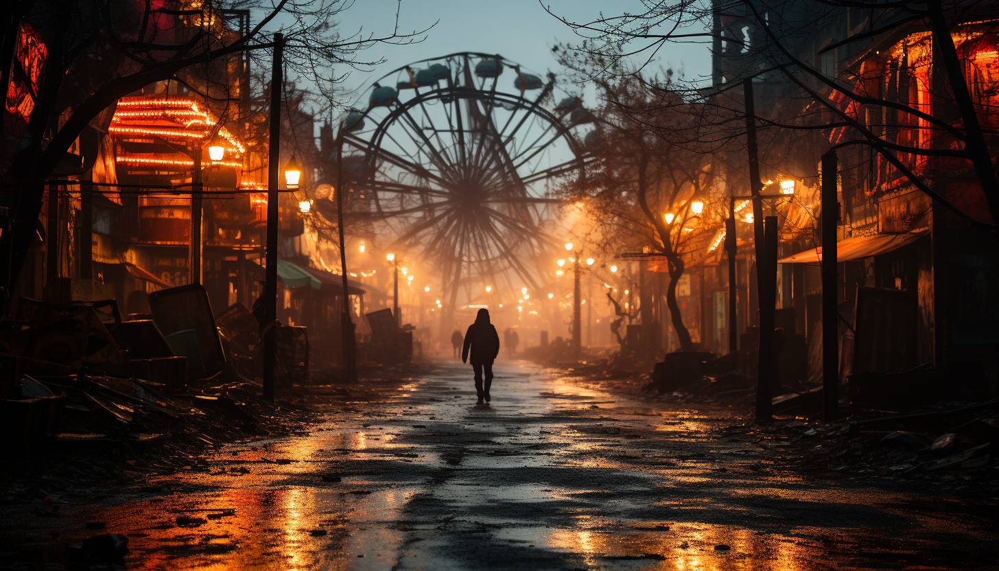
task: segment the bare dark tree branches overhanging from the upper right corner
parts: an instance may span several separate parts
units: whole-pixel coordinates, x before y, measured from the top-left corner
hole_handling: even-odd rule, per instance
[[[994,132],[982,127],[980,115],[987,103],[981,97],[972,97],[966,73],[971,62],[967,53],[958,51],[952,33],[961,27],[967,32],[962,39],[972,43],[984,34],[994,33],[994,2],[642,0],[642,4],[644,10],[636,13],[601,14],[588,22],[559,18],[583,38],[569,51],[578,60],[590,62],[591,77],[633,74],[651,64],[669,45],[710,44],[716,56],[712,87],[703,88],[703,81],[689,82],[685,88],[675,83],[671,87],[683,91],[685,100],[697,99],[719,107],[717,115],[723,119],[715,125],[731,126],[725,136],[739,134],[734,119],[743,108],[732,92],[738,90],[741,79],[753,77],[770,85],[783,84],[772,93],[783,100],[779,115],[757,117],[764,128],[827,133],[840,129],[829,133],[835,138],[832,144],[871,148],[915,188],[969,225],[995,235],[999,182]],[[851,14],[853,20],[849,20]],[[846,22],[851,24],[849,28]],[[840,31],[836,34],[823,34],[824,26],[837,25]],[[914,77],[905,54],[862,52],[867,46],[887,47],[913,35],[928,35],[925,41],[931,44],[930,65],[935,79],[923,88],[935,101],[932,111],[899,89],[899,81]],[[821,37],[830,40],[815,45],[814,40]],[[860,69],[865,60],[880,63]],[[670,80],[659,77],[652,82],[661,86]],[[930,136],[904,136],[916,130]],[[719,131],[702,130],[698,134],[717,140]],[[931,188],[914,168],[916,159],[927,158],[969,165],[981,185],[992,220],[973,218]]]

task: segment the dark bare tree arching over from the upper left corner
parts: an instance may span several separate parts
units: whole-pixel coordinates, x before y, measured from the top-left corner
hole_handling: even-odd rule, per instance
[[[225,105],[234,100],[235,78],[219,75],[212,62],[238,54],[267,52],[265,34],[285,34],[285,61],[292,73],[314,81],[324,95],[350,69],[379,63],[362,54],[381,42],[415,41],[422,32],[400,31],[398,14],[391,33],[341,35],[336,18],[351,0],[321,2],[206,1],[196,8],[162,2],[124,0],[15,0],[6,6],[0,41],[0,83],[19,105],[3,110],[0,180],[7,227],[0,235],[0,287],[3,303],[16,283],[41,211],[46,181],[60,172],[67,151],[88,125],[121,97],[160,81],[185,82],[199,66],[208,78],[206,98]],[[249,25],[251,14],[260,21]],[[247,25],[234,29],[233,17]],[[34,42],[28,59],[32,77],[24,77],[24,58],[14,57]],[[30,47],[30,46],[29,46]],[[270,64],[265,58],[264,65]],[[225,69],[225,66],[222,66]],[[194,86],[189,87],[196,89]],[[27,88],[18,91],[27,85]],[[218,89],[212,89],[212,87]],[[249,85],[240,85],[243,94]],[[20,116],[18,115],[20,114]],[[77,166],[77,169],[79,167]]]

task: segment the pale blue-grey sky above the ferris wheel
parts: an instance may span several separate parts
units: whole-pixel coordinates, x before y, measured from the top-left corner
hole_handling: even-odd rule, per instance
[[[637,11],[635,0],[544,0],[551,10],[582,22],[604,14]],[[359,28],[376,34],[389,33],[395,20],[397,0],[357,0],[341,19],[343,33]],[[393,69],[423,59],[454,52],[499,53],[520,65],[544,73],[558,73],[551,53],[557,42],[575,42],[578,37],[564,24],[547,14],[537,0],[403,0],[400,28],[412,31],[438,22],[422,43],[409,46],[379,45],[362,55],[365,59],[385,56],[387,62],[371,73],[355,71],[345,87],[365,88],[352,99],[364,95],[367,86]],[[688,79],[708,74],[710,59],[703,44],[670,46],[660,52],[662,67],[682,67]]]

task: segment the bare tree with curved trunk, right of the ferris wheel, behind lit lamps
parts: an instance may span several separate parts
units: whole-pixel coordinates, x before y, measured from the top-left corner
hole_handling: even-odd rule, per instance
[[[698,106],[681,104],[668,90],[652,91],[635,78],[598,80],[603,104],[594,112],[594,153],[600,157],[579,184],[566,190],[586,198],[603,229],[605,246],[640,249],[665,258],[666,306],[682,349],[693,346],[683,324],[676,286],[702,242],[721,225],[715,167],[707,154],[663,135],[699,121]],[[664,100],[670,100],[665,104]]]

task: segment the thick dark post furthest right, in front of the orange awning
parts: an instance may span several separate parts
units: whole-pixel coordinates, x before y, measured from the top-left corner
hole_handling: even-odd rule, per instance
[[[822,155],[822,402],[826,422],[839,415],[839,312],[836,308],[836,151]]]

